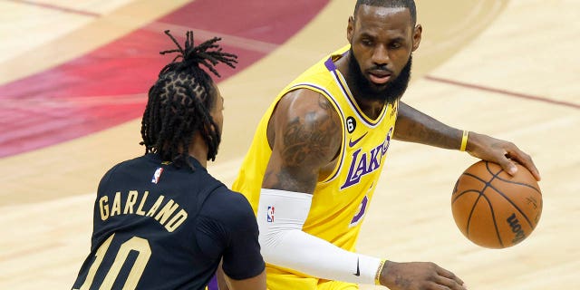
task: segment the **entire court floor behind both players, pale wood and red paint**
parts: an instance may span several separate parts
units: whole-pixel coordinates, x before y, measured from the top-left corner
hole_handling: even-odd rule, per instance
[[[354,0],[0,0],[0,288],[70,288],[89,252],[102,174],[143,154],[147,92],[184,41],[222,37],[225,128],[209,172],[231,185],[275,95],[346,43]],[[432,261],[469,289],[580,289],[580,3],[417,0],[423,26],[403,101],[510,140],[542,174],[544,212],[501,250],[461,235],[450,194],[474,158],[394,142],[358,251]],[[374,289],[374,286],[362,286]],[[379,287],[376,287],[379,288]]]

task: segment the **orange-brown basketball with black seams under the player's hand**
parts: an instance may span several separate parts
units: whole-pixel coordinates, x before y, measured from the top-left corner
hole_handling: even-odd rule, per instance
[[[517,164],[511,176],[496,163],[478,161],[459,176],[451,211],[461,233],[476,245],[512,247],[536,228],[542,193],[525,167]]]

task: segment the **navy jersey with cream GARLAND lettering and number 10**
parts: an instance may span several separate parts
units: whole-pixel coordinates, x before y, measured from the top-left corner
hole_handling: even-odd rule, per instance
[[[148,154],[103,176],[73,289],[204,289],[221,258],[234,279],[264,270],[247,199],[189,161],[195,170]]]

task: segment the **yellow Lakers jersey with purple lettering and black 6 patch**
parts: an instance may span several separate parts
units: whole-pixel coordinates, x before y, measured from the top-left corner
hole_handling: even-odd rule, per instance
[[[378,118],[368,118],[354,101],[343,75],[334,66],[349,46],[301,74],[276,97],[257,127],[256,135],[233,189],[244,194],[254,211],[272,150],[266,138],[275,105],[287,92],[313,90],[333,104],[342,119],[342,147],[333,173],[319,180],[304,232],[353,251],[365,211],[381,174],[397,118],[397,104],[385,105]]]

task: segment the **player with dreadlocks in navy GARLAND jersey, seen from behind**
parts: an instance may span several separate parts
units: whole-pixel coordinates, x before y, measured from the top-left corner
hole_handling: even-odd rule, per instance
[[[220,261],[232,289],[266,289],[247,199],[206,170],[221,139],[223,98],[209,72],[235,67],[218,38],[182,47],[150,88],[145,155],[110,169],[94,205],[91,254],[73,289],[204,289]]]

